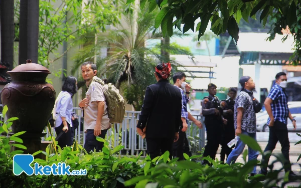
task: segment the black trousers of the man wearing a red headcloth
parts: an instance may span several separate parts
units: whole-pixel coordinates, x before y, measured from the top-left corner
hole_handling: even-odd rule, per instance
[[[162,154],[165,151],[170,152],[170,159],[173,156],[173,142],[174,138],[147,138],[146,136],[146,150],[147,154],[151,159],[160,156],[160,151]]]

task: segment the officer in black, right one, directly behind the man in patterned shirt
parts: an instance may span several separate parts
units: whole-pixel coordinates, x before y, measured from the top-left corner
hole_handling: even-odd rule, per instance
[[[235,129],[234,129],[234,104],[235,104],[235,98],[237,94],[237,89],[235,88],[229,88],[228,96],[229,98],[226,100],[221,101],[221,108],[223,111],[223,117],[227,119],[227,124],[222,125],[222,140],[221,140],[221,161],[225,161],[225,156],[231,153],[232,148],[234,145],[229,148],[227,143],[229,143],[233,138],[235,138]]]

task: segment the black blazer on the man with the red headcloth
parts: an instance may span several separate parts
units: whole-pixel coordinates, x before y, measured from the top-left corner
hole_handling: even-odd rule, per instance
[[[168,80],[147,86],[144,101],[137,124],[146,126],[147,138],[173,138],[182,124],[182,95]]]

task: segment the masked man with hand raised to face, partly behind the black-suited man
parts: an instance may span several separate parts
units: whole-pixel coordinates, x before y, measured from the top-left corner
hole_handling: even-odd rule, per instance
[[[188,139],[186,136],[186,130],[188,127],[188,119],[194,122],[199,128],[202,128],[202,123],[195,119],[188,111],[187,111],[187,103],[189,101],[189,94],[191,86],[186,83],[186,75],[183,72],[177,72],[173,76],[174,85],[180,90],[182,95],[182,112],[181,119],[182,124],[180,125],[179,130],[179,140],[174,142],[173,144],[173,156],[179,157],[179,160],[183,160],[183,153],[191,156]],[[185,92],[185,94],[184,94]]]

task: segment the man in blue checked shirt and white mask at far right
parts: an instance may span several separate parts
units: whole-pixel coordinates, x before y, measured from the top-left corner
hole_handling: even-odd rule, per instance
[[[288,178],[293,180],[296,174],[291,171],[289,162],[289,140],[287,132],[287,118],[292,121],[293,130],[296,129],[296,120],[291,116],[287,106],[287,95],[285,88],[287,86],[287,78],[284,72],[276,74],[276,83],[271,88],[267,98],[264,101],[266,112],[268,113],[267,124],[269,126],[269,139],[264,152],[272,152],[277,142],[281,144],[281,152],[286,159],[284,170],[289,171]],[[267,174],[267,164],[270,154],[264,155],[261,161],[261,174]]]

